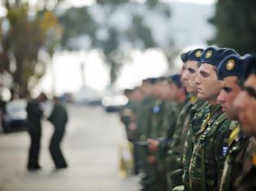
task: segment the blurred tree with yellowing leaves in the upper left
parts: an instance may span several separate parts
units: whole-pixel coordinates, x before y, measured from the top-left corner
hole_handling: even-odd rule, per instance
[[[37,11],[29,15],[28,3],[11,2],[5,2],[7,17],[2,22],[8,23],[8,29],[2,34],[2,54],[13,61],[4,62],[5,68],[10,70],[10,65],[15,65],[15,69],[10,71],[15,87],[24,96],[46,70],[45,60],[38,59],[39,53],[44,51],[53,55],[61,30],[51,11]]]

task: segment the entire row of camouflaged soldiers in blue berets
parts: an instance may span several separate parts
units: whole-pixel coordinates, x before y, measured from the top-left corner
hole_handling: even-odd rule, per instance
[[[181,59],[180,74],[125,91],[141,190],[256,190],[256,57],[208,47]]]

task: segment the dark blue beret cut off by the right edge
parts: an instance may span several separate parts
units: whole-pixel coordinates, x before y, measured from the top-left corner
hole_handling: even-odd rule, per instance
[[[242,79],[245,80],[249,77],[249,74],[256,74],[256,56],[252,54],[245,54],[243,56],[244,70],[242,72]]]

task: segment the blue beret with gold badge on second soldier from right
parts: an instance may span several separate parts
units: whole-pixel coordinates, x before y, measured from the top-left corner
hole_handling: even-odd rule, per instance
[[[237,54],[232,54],[228,57],[224,57],[224,59],[219,63],[218,66],[219,79],[224,79],[228,76],[236,76],[240,79],[243,67],[243,57],[240,57]]]

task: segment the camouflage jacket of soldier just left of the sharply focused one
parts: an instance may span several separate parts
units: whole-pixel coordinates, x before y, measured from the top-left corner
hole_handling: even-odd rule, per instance
[[[193,153],[193,140],[198,127],[202,124],[203,119],[206,117],[207,112],[209,112],[208,102],[204,100],[197,100],[193,107],[190,109],[191,117],[189,121],[189,131],[184,142],[184,155],[183,155],[183,166],[184,166],[184,175],[183,175],[183,184],[184,190],[189,190],[189,164],[190,159]]]

